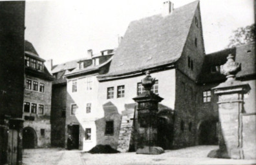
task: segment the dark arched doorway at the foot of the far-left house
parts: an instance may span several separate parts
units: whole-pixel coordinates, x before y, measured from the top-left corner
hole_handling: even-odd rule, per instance
[[[22,145],[23,148],[35,148],[37,146],[37,135],[33,128],[23,128]]]

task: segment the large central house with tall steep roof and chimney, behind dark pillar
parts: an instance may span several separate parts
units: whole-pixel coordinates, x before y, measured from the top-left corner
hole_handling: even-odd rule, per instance
[[[117,148],[121,120],[105,117],[104,112],[121,115],[125,104],[134,103],[133,98],[144,90],[140,82],[149,70],[156,78],[153,92],[164,98],[162,105],[175,111],[174,130],[169,132],[167,144],[160,146],[195,145],[196,83],[204,58],[199,1],[180,8],[173,8],[173,3],[168,1],[162,14],[131,22],[109,72],[98,75],[101,112],[98,117],[105,119],[105,130],[97,133],[99,144]],[[107,126],[110,121],[112,128]],[[187,125],[189,131],[185,131]],[[106,134],[106,129],[112,129],[113,133]]]

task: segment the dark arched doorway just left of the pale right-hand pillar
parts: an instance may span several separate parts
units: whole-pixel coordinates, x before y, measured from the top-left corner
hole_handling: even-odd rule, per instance
[[[200,145],[217,145],[218,144],[218,121],[203,121],[199,127],[199,144]]]

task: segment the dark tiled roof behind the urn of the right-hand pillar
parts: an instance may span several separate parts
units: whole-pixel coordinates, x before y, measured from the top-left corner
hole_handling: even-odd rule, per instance
[[[244,77],[256,73],[255,43],[244,44],[237,48],[229,48],[206,55],[199,82],[209,83],[214,81],[225,81],[226,76],[220,74],[220,72],[212,73],[211,67],[225,64],[229,54],[232,54],[235,57],[235,62],[241,63],[241,71],[237,73],[236,77]]]

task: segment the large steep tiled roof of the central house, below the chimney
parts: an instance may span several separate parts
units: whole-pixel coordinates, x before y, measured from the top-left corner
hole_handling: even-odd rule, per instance
[[[116,50],[109,73],[131,73],[174,63],[180,58],[199,1],[175,8],[165,17],[133,21]]]

